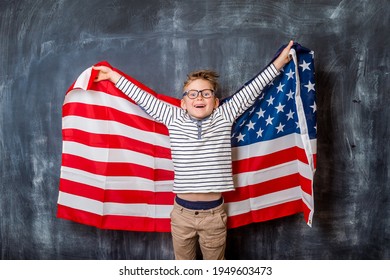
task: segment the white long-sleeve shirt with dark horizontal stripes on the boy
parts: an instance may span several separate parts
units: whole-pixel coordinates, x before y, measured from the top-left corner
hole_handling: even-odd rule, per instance
[[[169,130],[174,193],[225,192],[234,189],[231,128],[279,72],[273,64],[202,120],[143,91],[123,76],[116,87]]]

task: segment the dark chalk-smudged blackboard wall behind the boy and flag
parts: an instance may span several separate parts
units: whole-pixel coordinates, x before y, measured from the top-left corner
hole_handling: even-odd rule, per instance
[[[179,97],[213,68],[231,93],[294,39],[315,51],[313,227],[300,215],[229,231],[228,259],[390,259],[387,0],[0,1],[0,258],[172,259],[169,233],[56,218],[67,88],[107,60]]]

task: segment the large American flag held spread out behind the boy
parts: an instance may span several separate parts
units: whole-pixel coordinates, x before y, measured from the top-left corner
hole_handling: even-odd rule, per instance
[[[291,55],[232,128],[236,190],[223,194],[228,228],[297,213],[312,224],[314,53],[294,44]],[[179,106],[180,100],[115,70]],[[168,130],[112,83],[94,83],[96,74],[86,69],[65,96],[57,216],[103,229],[170,231],[174,173]]]

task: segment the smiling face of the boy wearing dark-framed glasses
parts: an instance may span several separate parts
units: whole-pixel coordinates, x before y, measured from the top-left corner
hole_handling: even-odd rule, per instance
[[[191,89],[203,90],[203,89],[213,89],[210,82],[197,79],[190,82],[185,88],[184,91]],[[187,110],[187,113],[195,119],[204,119],[211,115],[213,110],[219,105],[219,99],[214,95],[210,98],[204,98],[201,93],[198,94],[198,97],[195,99],[190,99],[188,96],[183,96],[181,100],[181,108]]]

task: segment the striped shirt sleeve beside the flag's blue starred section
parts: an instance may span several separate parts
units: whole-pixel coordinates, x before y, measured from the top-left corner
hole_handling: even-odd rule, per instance
[[[234,122],[249,107],[251,107],[263,89],[275,79],[280,72],[272,63],[257,75],[250,83],[246,84],[235,93],[227,102],[221,105],[220,109],[224,117]]]

